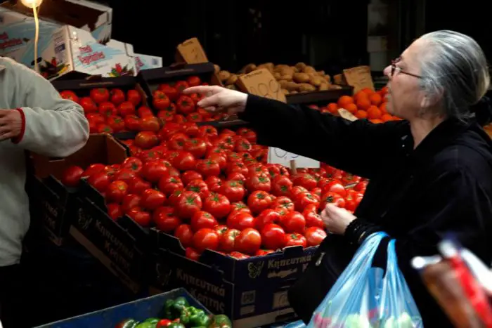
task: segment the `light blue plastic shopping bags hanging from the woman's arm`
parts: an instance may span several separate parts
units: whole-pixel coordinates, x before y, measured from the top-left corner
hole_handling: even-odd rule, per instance
[[[388,245],[386,275],[373,268],[384,232],[370,235],[313,313],[309,328],[413,328],[422,318]]]

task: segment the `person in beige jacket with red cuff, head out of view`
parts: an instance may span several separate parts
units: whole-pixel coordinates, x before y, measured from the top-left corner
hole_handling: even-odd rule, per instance
[[[19,327],[22,310],[16,300],[22,240],[30,225],[26,150],[66,157],[88,138],[82,107],[61,98],[33,70],[0,57],[0,320],[5,328]]]

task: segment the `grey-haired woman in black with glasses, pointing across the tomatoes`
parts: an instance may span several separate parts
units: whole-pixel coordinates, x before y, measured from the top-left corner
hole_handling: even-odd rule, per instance
[[[410,259],[436,254],[436,244],[453,233],[485,263],[492,261],[492,143],[479,126],[489,112],[481,100],[489,84],[486,58],[472,38],[438,31],[413,42],[384,74],[387,110],[401,121],[349,122],[219,86],[186,92],[204,93],[199,105],[209,110],[237,112],[259,143],[369,178],[354,214],[332,205],[323,210],[334,235],[320,249],[349,249],[347,261],[340,260],[348,263],[370,233],[387,232],[396,239],[399,266],[425,327],[451,327]],[[312,282],[305,299],[292,304],[304,319],[325,296],[323,286]]]

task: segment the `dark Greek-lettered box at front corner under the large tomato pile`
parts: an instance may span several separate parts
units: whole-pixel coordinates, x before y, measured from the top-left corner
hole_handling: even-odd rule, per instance
[[[150,262],[150,292],[184,287],[212,313],[223,313],[235,328],[260,327],[295,317],[287,290],[306,270],[316,247],[287,247],[268,256],[236,260],[205,251],[200,262],[186,258],[179,240],[150,229],[160,249]]]

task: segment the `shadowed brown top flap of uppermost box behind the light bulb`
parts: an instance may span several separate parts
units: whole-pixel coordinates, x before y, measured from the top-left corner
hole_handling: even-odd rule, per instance
[[[20,1],[17,4],[11,4],[9,1],[5,1],[0,6],[25,15],[32,15],[32,9],[22,5]],[[103,13],[105,12],[96,8],[65,0],[44,0],[41,6],[39,6],[40,18],[63,22],[79,28],[87,25],[91,30],[98,27],[98,20]],[[109,13],[108,20],[110,20]]]

